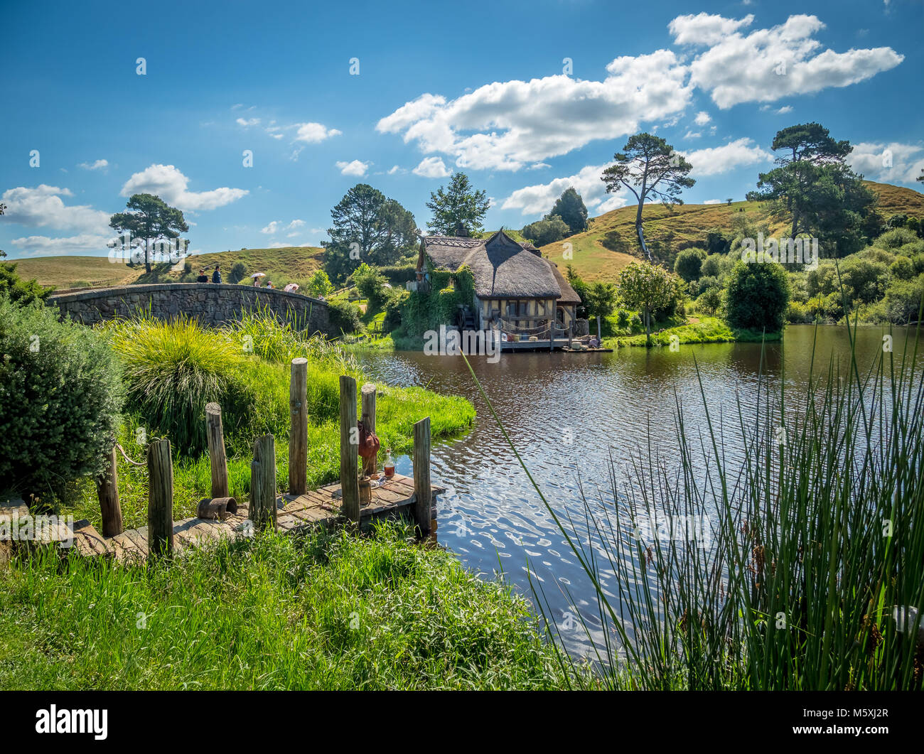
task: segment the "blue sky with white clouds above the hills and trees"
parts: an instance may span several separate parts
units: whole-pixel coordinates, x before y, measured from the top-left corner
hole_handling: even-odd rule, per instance
[[[139,191],[186,213],[194,251],[317,245],[360,181],[423,228],[455,170],[492,198],[489,227],[539,218],[568,185],[599,214],[632,203],[599,176],[639,130],[694,165],[688,202],[743,199],[776,130],[811,120],[867,177],[921,186],[922,0],[30,2],[2,18],[14,259],[105,254],[108,216]]]

